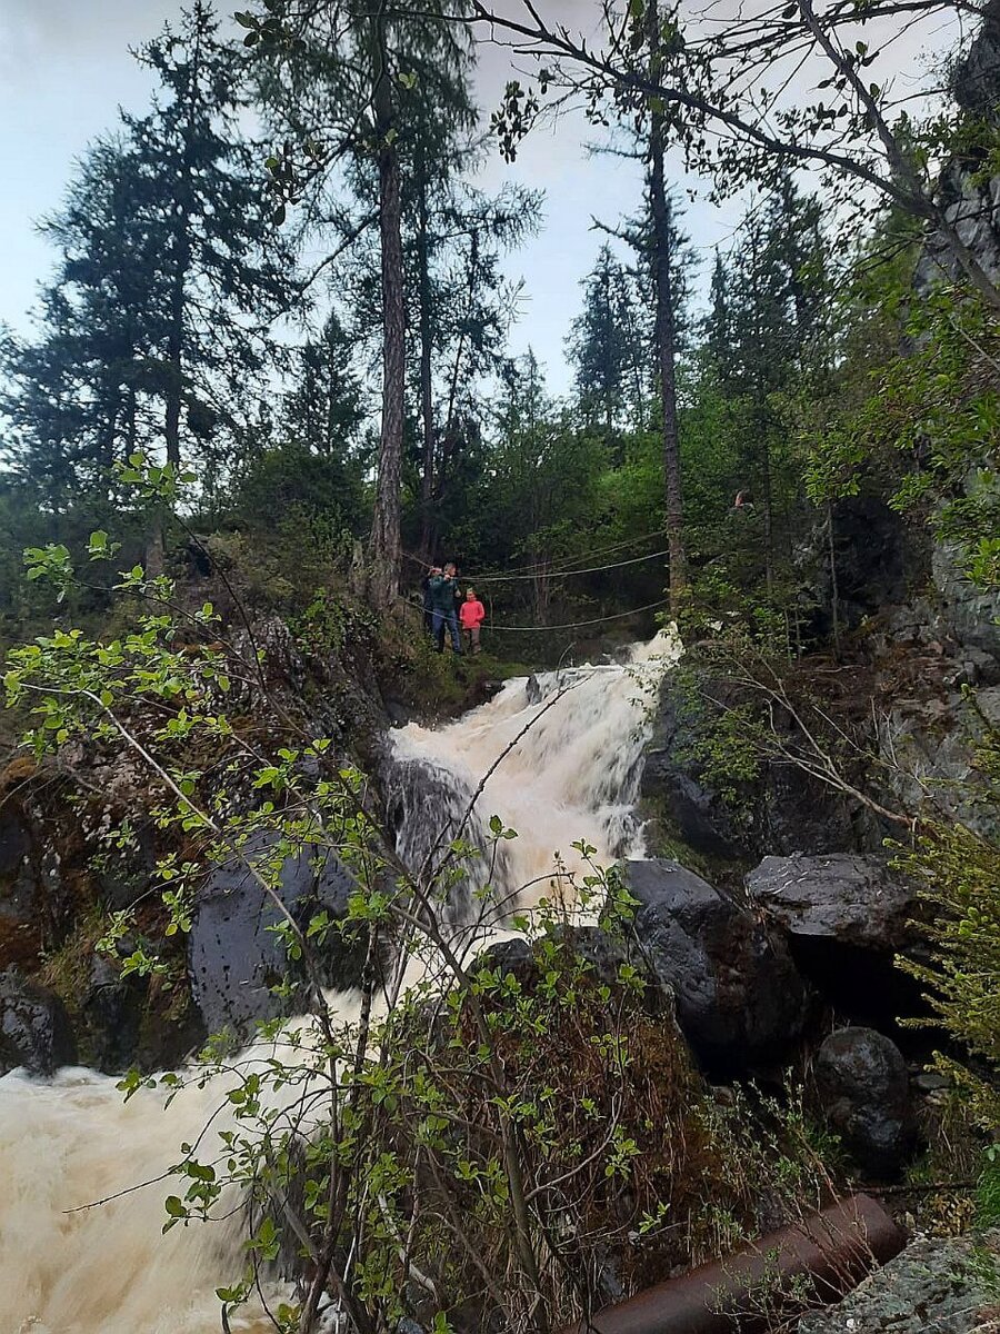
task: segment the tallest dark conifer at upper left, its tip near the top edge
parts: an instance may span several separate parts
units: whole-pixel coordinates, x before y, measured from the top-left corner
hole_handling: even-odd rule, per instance
[[[231,408],[265,371],[269,327],[292,299],[292,260],[255,180],[255,151],[239,132],[240,63],[219,43],[209,5],[196,0],[180,32],[167,28],[140,59],[165,93],[151,116],[125,124],[161,256],[157,388],[167,458],[177,463],[184,408],[188,439],[220,420],[236,426]]]

